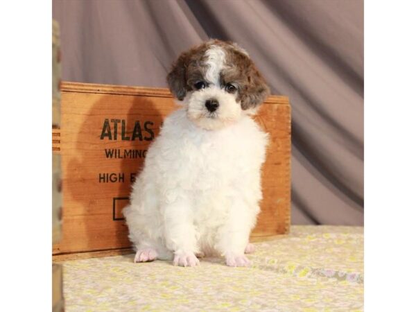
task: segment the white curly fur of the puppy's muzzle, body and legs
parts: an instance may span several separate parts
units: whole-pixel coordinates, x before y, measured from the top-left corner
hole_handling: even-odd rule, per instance
[[[205,101],[213,97],[220,106],[209,113]],[[267,140],[234,95],[217,85],[189,92],[148,149],[123,211],[135,261],[195,266],[196,254],[214,253],[246,266]]]

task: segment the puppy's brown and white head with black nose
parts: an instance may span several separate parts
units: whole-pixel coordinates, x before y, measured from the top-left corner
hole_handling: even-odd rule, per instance
[[[187,117],[207,130],[254,114],[270,94],[248,53],[220,40],[209,40],[182,53],[167,80]]]

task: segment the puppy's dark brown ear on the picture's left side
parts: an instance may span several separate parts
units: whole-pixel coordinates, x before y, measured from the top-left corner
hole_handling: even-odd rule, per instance
[[[167,76],[169,89],[179,101],[187,95],[187,59],[188,53],[179,55]]]

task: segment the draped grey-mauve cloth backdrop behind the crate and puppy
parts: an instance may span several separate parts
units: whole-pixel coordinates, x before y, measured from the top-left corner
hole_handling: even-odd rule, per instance
[[[363,225],[362,0],[53,0],[62,80],[166,87],[177,55],[238,42],[293,111],[294,224]]]

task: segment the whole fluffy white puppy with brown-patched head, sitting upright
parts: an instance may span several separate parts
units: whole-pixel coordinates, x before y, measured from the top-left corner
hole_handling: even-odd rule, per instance
[[[165,119],[123,210],[135,262],[196,266],[197,254],[218,254],[247,266],[268,141],[250,115],[268,86],[245,50],[220,40],[182,53],[167,80],[182,107]]]

